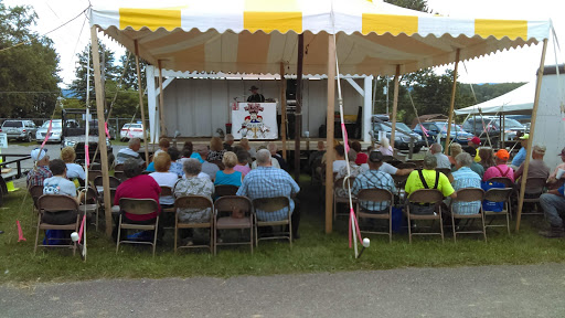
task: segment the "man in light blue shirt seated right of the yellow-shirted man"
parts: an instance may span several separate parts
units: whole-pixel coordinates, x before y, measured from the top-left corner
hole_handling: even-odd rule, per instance
[[[457,170],[452,172],[454,176],[454,190],[460,190],[463,188],[477,188],[481,189],[481,177],[471,170],[471,165],[475,162],[473,158],[462,152],[455,157],[455,166]],[[451,211],[456,214],[477,214],[481,206],[481,201],[473,202],[461,202],[455,201],[451,204]]]

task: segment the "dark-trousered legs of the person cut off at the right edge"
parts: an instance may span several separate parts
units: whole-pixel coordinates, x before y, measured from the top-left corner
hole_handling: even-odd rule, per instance
[[[540,204],[543,208],[545,220],[550,222],[550,230],[541,231],[540,235],[545,237],[564,237],[562,215],[565,214],[565,186],[557,190],[550,190],[540,197]]]

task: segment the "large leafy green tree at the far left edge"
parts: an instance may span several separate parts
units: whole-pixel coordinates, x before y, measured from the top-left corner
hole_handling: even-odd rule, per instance
[[[0,2],[0,116],[50,117],[61,89],[53,41],[32,32],[30,7]]]

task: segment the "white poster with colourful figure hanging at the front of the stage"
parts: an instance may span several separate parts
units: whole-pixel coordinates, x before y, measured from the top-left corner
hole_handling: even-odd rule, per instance
[[[278,139],[277,103],[238,103],[232,107],[232,127],[235,139]]]

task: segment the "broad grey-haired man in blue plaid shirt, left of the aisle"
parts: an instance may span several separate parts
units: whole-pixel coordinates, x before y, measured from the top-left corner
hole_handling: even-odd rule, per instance
[[[298,239],[298,225],[300,222],[300,211],[295,211],[295,197],[300,187],[282,169],[274,168],[270,161],[270,152],[267,149],[257,151],[257,169],[253,169],[243,179],[242,187],[237,190],[237,195],[245,195],[250,200],[258,198],[287,197],[290,200],[290,212],[292,213],[292,236]],[[287,218],[287,210],[282,209],[276,212],[264,212],[255,210],[257,219],[262,221],[280,221]]]

